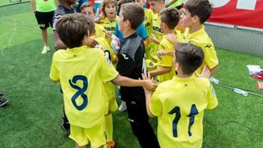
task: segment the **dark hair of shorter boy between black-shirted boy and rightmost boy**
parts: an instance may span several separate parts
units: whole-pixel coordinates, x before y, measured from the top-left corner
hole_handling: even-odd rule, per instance
[[[161,20],[165,23],[169,29],[175,29],[180,21],[180,13],[177,8],[166,8],[160,13]]]

